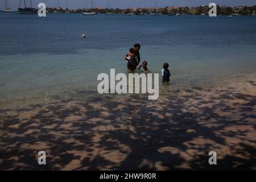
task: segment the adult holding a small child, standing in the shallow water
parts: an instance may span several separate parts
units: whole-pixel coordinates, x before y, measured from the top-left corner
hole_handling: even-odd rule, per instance
[[[129,53],[126,55],[125,60],[127,63],[127,69],[134,72],[141,61],[141,55],[139,50],[141,49],[140,44],[134,44],[134,48],[130,48]]]

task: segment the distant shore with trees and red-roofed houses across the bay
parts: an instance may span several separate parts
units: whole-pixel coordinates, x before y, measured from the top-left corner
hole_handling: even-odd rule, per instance
[[[131,9],[107,9],[94,7],[90,9],[68,9],[63,7],[47,7],[47,13],[96,13],[96,14],[163,14],[163,15],[207,15],[210,8],[208,6],[198,7],[134,7]],[[255,6],[219,6],[217,5],[217,15],[256,15]]]

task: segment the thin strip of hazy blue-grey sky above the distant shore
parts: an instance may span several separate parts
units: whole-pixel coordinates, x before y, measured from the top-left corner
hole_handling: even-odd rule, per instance
[[[9,8],[16,10],[19,6],[19,1],[24,0],[7,0]],[[69,9],[79,9],[86,7],[86,1],[90,7],[90,0],[59,0],[61,7],[68,6]],[[30,0],[26,0],[30,3]],[[47,7],[57,7],[58,0],[32,0],[32,5],[36,7],[38,3],[45,2]],[[157,0],[157,7],[166,6],[200,6],[209,5],[214,2],[217,5],[224,6],[254,6],[256,0]],[[93,0],[93,6],[96,7],[107,7],[108,0]],[[127,9],[127,7],[154,7],[155,0],[109,0],[109,7]],[[5,0],[0,0],[0,9],[5,9]]]

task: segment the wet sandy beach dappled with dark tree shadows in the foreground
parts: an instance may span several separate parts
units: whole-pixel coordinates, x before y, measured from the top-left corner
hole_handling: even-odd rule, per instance
[[[0,110],[0,169],[256,169],[256,77]],[[38,165],[38,151],[47,165]],[[208,152],[217,152],[210,166]]]

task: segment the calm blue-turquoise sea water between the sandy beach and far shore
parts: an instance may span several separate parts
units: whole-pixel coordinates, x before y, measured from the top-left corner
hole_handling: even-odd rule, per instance
[[[151,72],[170,63],[174,89],[212,86],[256,71],[255,16],[0,13],[0,22],[2,105],[95,91],[99,73],[127,73],[123,58],[134,43],[141,43]]]

